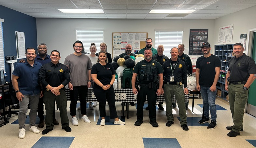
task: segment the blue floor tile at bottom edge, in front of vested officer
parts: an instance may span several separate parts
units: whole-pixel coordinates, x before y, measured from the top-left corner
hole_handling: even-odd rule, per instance
[[[181,148],[176,138],[142,138],[144,148]]]

